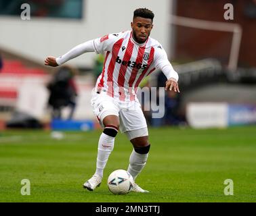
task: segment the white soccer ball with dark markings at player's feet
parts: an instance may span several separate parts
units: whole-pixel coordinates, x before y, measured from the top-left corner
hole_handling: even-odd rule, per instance
[[[117,169],[108,176],[108,189],[113,194],[128,194],[133,184],[133,177],[124,169]]]

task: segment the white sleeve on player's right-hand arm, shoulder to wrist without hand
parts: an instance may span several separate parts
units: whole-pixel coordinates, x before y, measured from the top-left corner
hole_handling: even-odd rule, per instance
[[[168,60],[167,53],[165,52],[165,49],[163,49],[162,45],[157,45],[156,47],[155,66],[156,69],[161,70],[165,74],[167,80],[170,78],[174,78],[176,81],[179,80],[179,75],[173,69],[173,66]]]

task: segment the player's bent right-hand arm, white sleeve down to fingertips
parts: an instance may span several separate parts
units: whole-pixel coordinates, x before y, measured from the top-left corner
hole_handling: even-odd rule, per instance
[[[179,92],[179,75],[173,69],[165,50],[161,46],[156,48],[156,68],[159,68],[167,78],[167,81],[165,82],[165,90]]]

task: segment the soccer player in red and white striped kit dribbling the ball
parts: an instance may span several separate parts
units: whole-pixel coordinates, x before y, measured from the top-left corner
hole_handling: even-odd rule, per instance
[[[93,113],[104,130],[98,142],[95,173],[83,184],[88,190],[100,186],[119,130],[133,144],[127,171],[134,180],[146,165],[150,150],[148,128],[136,97],[142,79],[160,69],[167,77],[165,90],[179,92],[177,72],[173,70],[162,45],[150,37],[153,18],[154,14],[149,9],[135,9],[131,30],[107,34],[77,45],[60,57],[49,56],[45,59],[45,65],[56,67],[83,53],[106,52],[102,74],[98,77],[91,99]],[[132,191],[148,192],[137,184],[134,184]]]

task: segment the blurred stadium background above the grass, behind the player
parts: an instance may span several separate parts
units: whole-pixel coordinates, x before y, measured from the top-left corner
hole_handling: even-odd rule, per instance
[[[22,3],[30,5],[30,20],[20,17]],[[223,16],[226,3],[234,6],[234,20]],[[152,119],[152,112],[145,112],[154,136],[163,126],[165,132],[177,126],[188,128],[190,134],[191,128],[256,124],[255,0],[0,0],[0,142],[7,144],[5,136],[11,135],[15,142],[16,132],[9,134],[9,128],[40,128],[47,133],[97,130],[90,99],[104,56],[86,53],[68,62],[76,71],[78,94],[72,121],[51,118],[47,84],[58,68],[45,67],[43,62],[48,55],[60,56],[89,39],[129,30],[137,7],[154,11],[151,36],[165,47],[179,74],[181,93],[165,93],[165,116]],[[142,87],[164,84],[158,71]],[[64,108],[64,119],[68,109]],[[62,138],[62,134],[52,136]],[[256,144],[253,130],[248,136]],[[255,161],[250,165],[255,166]]]

